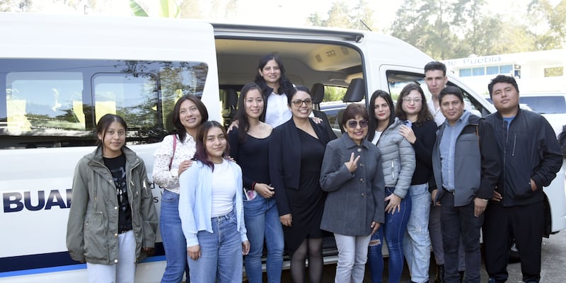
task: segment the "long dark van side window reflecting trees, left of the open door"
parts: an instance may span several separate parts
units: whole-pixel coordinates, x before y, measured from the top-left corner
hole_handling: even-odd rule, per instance
[[[0,59],[0,149],[89,146],[106,113],[128,124],[127,144],[161,141],[183,95],[202,96],[201,62]]]

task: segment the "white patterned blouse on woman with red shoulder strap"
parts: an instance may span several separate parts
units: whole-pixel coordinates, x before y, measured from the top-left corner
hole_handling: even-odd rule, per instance
[[[154,153],[154,182],[171,192],[179,193],[179,166],[180,163],[189,160],[195,156],[196,141],[190,134],[187,134],[185,141],[181,142],[179,136],[175,135],[177,139],[177,146],[175,147],[175,154],[173,155],[173,135],[170,134],[163,138],[161,144]],[[173,163],[171,163],[171,170],[169,163],[173,156]]]

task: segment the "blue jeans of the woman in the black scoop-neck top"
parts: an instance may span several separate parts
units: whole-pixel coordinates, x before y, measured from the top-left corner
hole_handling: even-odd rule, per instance
[[[264,239],[267,243],[267,282],[281,282],[284,238],[275,197],[265,199],[258,195],[253,200],[244,200],[243,209],[250,241],[250,253],[244,258],[249,282],[262,282]]]

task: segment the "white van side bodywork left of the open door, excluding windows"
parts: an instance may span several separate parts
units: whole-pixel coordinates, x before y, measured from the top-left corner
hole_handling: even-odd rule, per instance
[[[218,71],[212,25],[163,18],[98,18],[0,13],[0,59],[120,59],[204,62],[209,68],[202,101],[210,120],[221,120]],[[190,35],[190,36],[189,36]],[[127,121],[128,122],[128,121]],[[158,143],[129,146],[144,159],[151,180],[154,151]],[[0,258],[67,251],[65,238],[70,190],[79,159],[94,146],[0,150],[0,190],[6,194],[29,194],[38,205],[45,194],[50,209],[1,212]],[[161,190],[154,188],[159,212]],[[52,198],[50,198],[52,193]],[[57,197],[61,197],[59,202]],[[8,199],[9,200],[9,199]],[[13,200],[13,197],[12,197]],[[5,207],[6,208],[6,207]],[[161,237],[158,236],[161,242]],[[136,282],[158,282],[165,258],[154,257],[137,266]],[[0,272],[0,282],[86,282],[86,264],[35,270]]]

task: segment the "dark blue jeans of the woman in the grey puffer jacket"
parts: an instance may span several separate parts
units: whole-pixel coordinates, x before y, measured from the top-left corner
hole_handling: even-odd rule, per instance
[[[393,193],[393,188],[386,187],[385,196]],[[407,229],[407,222],[411,214],[411,196],[407,192],[405,198],[400,202],[400,212],[385,214],[385,224],[371,236],[368,250],[369,269],[371,271],[371,282],[381,283],[383,276],[383,253],[381,253],[383,236],[387,240],[389,251],[389,282],[400,282],[403,273],[403,237]],[[378,241],[378,244],[375,244]]]

